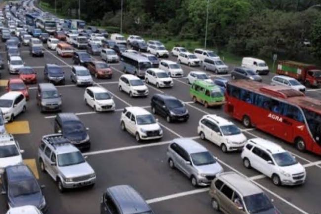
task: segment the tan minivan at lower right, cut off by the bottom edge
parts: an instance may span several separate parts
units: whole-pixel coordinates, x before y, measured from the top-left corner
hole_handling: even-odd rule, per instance
[[[217,175],[209,195],[212,208],[225,214],[281,214],[262,189],[235,172]]]

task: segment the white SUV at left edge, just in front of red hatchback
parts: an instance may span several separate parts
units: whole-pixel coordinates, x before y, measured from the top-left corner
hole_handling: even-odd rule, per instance
[[[18,91],[10,91],[0,97],[0,109],[6,121],[13,121],[13,118],[27,110],[25,96]]]

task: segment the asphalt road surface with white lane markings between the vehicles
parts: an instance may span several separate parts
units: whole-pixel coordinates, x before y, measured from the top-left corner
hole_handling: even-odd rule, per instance
[[[44,45],[45,48],[46,45]],[[2,50],[2,51],[1,51]],[[6,63],[4,45],[0,43],[0,51]],[[186,78],[176,78],[174,87],[170,89],[157,89],[149,86],[147,98],[129,98],[118,90],[118,79],[122,74],[119,64],[112,64],[113,78],[95,79],[100,86],[108,89],[113,95],[117,110],[115,112],[96,113],[83,102],[84,87],[76,87],[70,80],[70,67],[73,66],[71,58],[61,58],[53,51],[46,49],[43,58],[31,57],[27,47],[21,47],[21,56],[26,66],[35,67],[38,82],[43,82],[43,68],[46,63],[55,63],[63,66],[66,76],[66,85],[58,86],[63,99],[63,112],[77,113],[81,121],[89,128],[91,150],[86,152],[88,162],[97,175],[97,182],[92,189],[82,188],[60,193],[57,185],[47,174],[41,173],[37,161],[37,150],[40,138],[53,133],[54,113],[40,113],[36,105],[36,85],[30,85],[30,100],[27,111],[15,118],[15,122],[25,121],[28,127],[16,128],[16,140],[20,143],[24,159],[31,165],[33,172],[39,175],[39,183],[45,184],[44,194],[49,206],[48,214],[98,214],[100,197],[104,190],[113,185],[132,185],[151,205],[156,214],[213,214],[210,206],[210,197],[207,188],[194,188],[182,173],[171,170],[167,166],[166,148],[174,138],[188,137],[207,147],[217,156],[225,171],[236,171],[263,188],[282,214],[321,214],[321,162],[320,157],[311,153],[298,152],[292,145],[267,135],[255,129],[245,129],[238,122],[229,118],[222,109],[206,109],[199,104],[191,102],[189,85]],[[93,57],[100,59],[100,57]],[[170,57],[172,60],[176,60]],[[189,71],[201,70],[182,65],[184,75]],[[232,66],[231,66],[232,68]],[[217,76],[210,73],[212,78]],[[264,82],[269,83],[273,74],[263,76]],[[7,67],[2,70],[0,85],[10,77]],[[229,78],[228,75],[224,75]],[[0,87],[0,93],[5,93]],[[139,106],[150,110],[151,97],[156,93],[173,95],[186,102],[190,112],[190,119],[186,123],[167,123],[156,115],[162,125],[164,137],[161,141],[137,143],[133,136],[120,129],[120,114],[126,106]],[[321,89],[312,89],[308,96],[321,98]],[[218,114],[234,121],[248,138],[262,137],[281,144],[290,150],[297,160],[306,165],[307,180],[301,186],[277,187],[272,181],[259,172],[245,169],[242,166],[240,153],[224,154],[213,143],[202,141],[197,136],[197,126],[204,114]],[[19,123],[16,123],[19,124]],[[14,126],[14,124],[13,124]],[[18,125],[17,125],[18,127]],[[19,133],[21,130],[21,133]],[[34,164],[37,164],[36,166]],[[319,165],[318,165],[319,164]],[[34,167],[33,167],[34,166]],[[4,196],[0,196],[0,213],[6,212]]]

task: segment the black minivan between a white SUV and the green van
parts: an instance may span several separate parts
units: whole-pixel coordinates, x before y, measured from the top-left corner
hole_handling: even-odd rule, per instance
[[[185,105],[177,98],[165,94],[155,94],[152,97],[151,108],[154,114],[160,114],[167,122],[187,121],[190,117]]]

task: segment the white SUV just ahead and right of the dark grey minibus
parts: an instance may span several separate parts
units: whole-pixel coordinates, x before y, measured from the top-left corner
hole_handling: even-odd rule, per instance
[[[157,88],[173,87],[173,79],[161,69],[148,69],[145,73],[145,82],[156,85]]]

